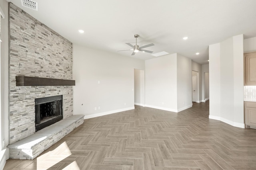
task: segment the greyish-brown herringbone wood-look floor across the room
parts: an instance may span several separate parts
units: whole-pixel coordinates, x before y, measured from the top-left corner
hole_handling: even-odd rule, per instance
[[[256,129],[208,119],[209,102],[179,113],[136,106],[86,119],[34,160],[13,170],[256,169]]]

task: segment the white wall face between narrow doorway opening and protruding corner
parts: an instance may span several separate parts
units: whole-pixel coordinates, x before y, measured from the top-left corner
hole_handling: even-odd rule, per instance
[[[145,61],[146,107],[177,112],[177,54]]]

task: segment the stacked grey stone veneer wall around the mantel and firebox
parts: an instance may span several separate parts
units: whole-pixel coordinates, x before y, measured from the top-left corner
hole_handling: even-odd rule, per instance
[[[16,86],[16,76],[72,80],[72,43],[9,3],[10,144],[35,133],[35,98],[63,95],[63,118],[73,112],[72,86]]]

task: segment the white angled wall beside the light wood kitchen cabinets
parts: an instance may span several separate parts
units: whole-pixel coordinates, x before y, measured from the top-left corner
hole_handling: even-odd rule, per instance
[[[243,35],[209,46],[210,119],[244,127]]]

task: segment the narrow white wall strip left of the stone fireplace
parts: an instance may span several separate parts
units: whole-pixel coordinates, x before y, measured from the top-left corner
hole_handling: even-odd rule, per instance
[[[8,98],[8,2],[0,1],[0,6],[4,12],[5,18],[1,19],[1,151],[0,151],[0,169],[3,168],[5,160],[9,158],[9,98]],[[5,141],[4,146],[3,140]]]

